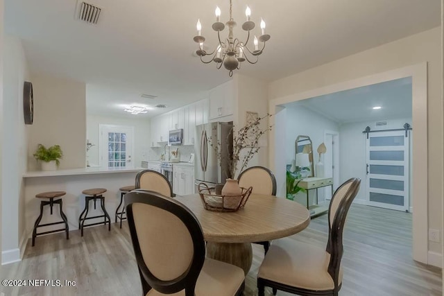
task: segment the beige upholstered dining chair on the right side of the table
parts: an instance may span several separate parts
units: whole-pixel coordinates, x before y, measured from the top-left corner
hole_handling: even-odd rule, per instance
[[[345,181],[334,193],[328,212],[326,249],[284,238],[274,241],[257,273],[259,296],[264,287],[298,295],[338,295],[342,284],[342,234],[348,209],[361,180]]]

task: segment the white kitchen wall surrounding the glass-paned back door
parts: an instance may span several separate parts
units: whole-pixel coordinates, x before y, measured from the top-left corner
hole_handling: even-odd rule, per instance
[[[115,116],[87,114],[87,139],[95,145],[87,152],[89,164],[99,164],[99,124],[134,127],[134,166],[140,166],[142,160],[147,159],[150,145],[150,121],[148,119],[126,119]]]

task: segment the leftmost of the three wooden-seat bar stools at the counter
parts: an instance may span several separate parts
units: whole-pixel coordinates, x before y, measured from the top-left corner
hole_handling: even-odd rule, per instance
[[[65,231],[65,232],[67,232],[67,239],[69,239],[68,219],[67,219],[67,216],[65,215],[65,213],[63,213],[62,198],[59,198],[60,196],[63,196],[65,194],[67,194],[65,191],[50,191],[50,192],[43,192],[43,193],[39,193],[39,194],[35,195],[36,198],[49,198],[49,201],[42,200],[40,202],[40,215],[38,216],[37,220],[35,220],[34,229],[33,229],[33,246],[35,245],[35,238],[37,236],[41,236],[42,234],[52,234],[53,232]],[[59,198],[59,199],[54,200],[54,198]],[[39,225],[40,221],[42,220],[42,216],[43,216],[43,207],[48,204],[49,204],[49,207],[51,207],[51,215],[53,214],[53,204],[58,204],[58,206],[60,208],[60,216],[62,217],[63,221]],[[40,232],[40,234],[37,234],[38,227],[56,225],[56,224],[61,224],[61,223],[65,223],[65,228],[51,230],[48,232]]]

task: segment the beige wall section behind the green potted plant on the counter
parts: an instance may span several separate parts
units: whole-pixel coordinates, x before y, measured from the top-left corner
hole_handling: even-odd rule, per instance
[[[28,137],[28,171],[39,171],[33,158],[37,144],[60,145],[60,169],[84,168],[86,157],[86,86],[69,78],[31,77],[34,123]]]

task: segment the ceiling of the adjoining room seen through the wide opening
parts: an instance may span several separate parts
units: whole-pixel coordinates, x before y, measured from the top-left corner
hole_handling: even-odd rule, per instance
[[[293,102],[336,123],[411,118],[411,77]],[[373,110],[379,106],[381,109]]]

